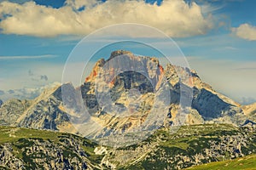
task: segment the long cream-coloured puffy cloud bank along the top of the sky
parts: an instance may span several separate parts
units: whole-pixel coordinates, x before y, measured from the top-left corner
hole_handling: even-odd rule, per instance
[[[86,35],[98,28],[120,23],[154,26],[171,37],[205,34],[212,28],[212,16],[202,14],[196,3],[166,0],[158,6],[143,0],[67,0],[61,8],[34,2],[0,3],[0,29],[5,34],[54,37]]]

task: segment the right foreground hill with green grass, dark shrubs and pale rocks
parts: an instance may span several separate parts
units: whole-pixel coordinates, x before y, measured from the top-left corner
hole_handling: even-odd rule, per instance
[[[145,145],[151,149],[144,149]],[[136,153],[139,148],[147,154],[138,154],[137,161],[125,161],[125,154],[131,154],[131,150]],[[119,160],[121,169],[180,169],[256,153],[256,133],[229,124],[183,126],[177,133],[160,129],[143,144],[122,150],[129,151],[123,152],[124,156],[110,157]]]

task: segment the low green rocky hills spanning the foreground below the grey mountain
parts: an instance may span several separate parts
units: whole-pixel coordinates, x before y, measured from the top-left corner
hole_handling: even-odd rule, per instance
[[[255,134],[229,124],[183,126],[175,134],[161,128],[143,142],[112,148],[70,133],[0,127],[0,169],[182,169],[238,157],[243,163],[256,153]]]

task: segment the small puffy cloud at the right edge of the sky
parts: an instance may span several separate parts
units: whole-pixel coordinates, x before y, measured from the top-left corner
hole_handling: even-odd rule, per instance
[[[241,37],[250,41],[256,40],[256,26],[242,24],[237,28],[232,28],[232,32],[235,33],[237,37]]]

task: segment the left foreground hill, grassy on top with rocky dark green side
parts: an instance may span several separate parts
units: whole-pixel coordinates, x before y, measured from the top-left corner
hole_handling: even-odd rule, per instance
[[[69,133],[0,127],[0,169],[100,169],[103,156],[95,154],[96,147]]]

